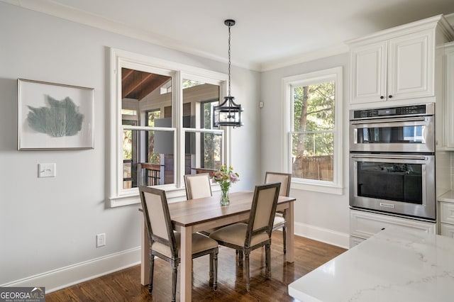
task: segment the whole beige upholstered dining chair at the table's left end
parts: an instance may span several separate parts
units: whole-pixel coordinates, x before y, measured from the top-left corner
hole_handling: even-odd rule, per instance
[[[148,293],[153,291],[155,256],[172,265],[172,301],[177,293],[177,268],[180,262],[179,232],[174,232],[170,219],[165,191],[148,186],[139,186],[145,229],[150,242],[150,284]],[[210,255],[209,277],[213,288],[218,285],[218,242],[205,235],[192,234],[192,259]]]

